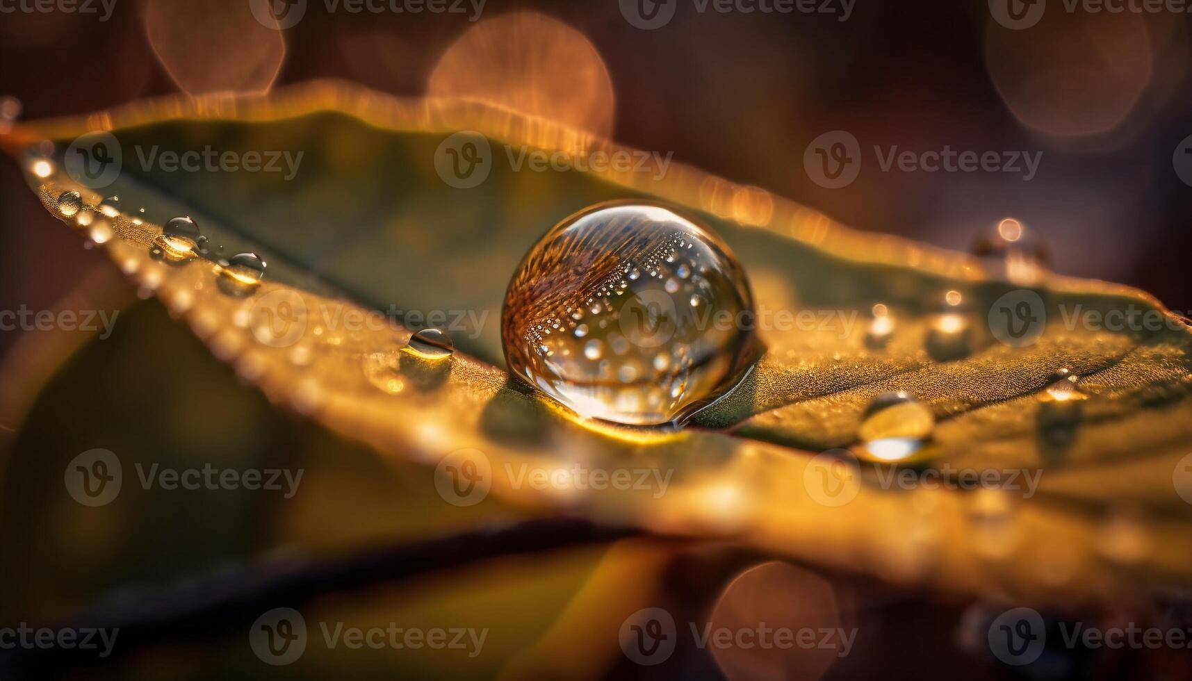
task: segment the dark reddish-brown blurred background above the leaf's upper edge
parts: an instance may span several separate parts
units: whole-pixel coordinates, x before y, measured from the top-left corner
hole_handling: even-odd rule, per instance
[[[648,12],[653,2],[642,1]],[[1171,309],[1192,309],[1192,187],[1173,167],[1192,135],[1188,14],[1069,13],[1055,4],[1037,25],[1012,30],[985,0],[833,0],[817,4],[824,13],[701,12],[693,0],[671,0],[670,20],[641,30],[616,0],[489,0],[478,13],[473,2],[420,14],[329,12],[310,1],[285,30],[285,54],[274,63],[256,47],[267,44],[259,36],[237,41],[232,27],[246,21],[238,1],[180,17],[192,4],[116,0],[106,20],[104,6],[93,5],[91,14],[4,14],[0,94],[19,99],[20,117],[92,112],[180,87],[313,78],[420,95],[468,29],[536,10],[579,31],[603,60],[619,142],[673,153],[855,228],[949,248],[968,249],[981,230],[1016,217],[1044,239],[1056,271],[1126,283]],[[565,58],[544,48],[544,70],[552,54]],[[246,67],[256,56],[260,73]],[[808,144],[832,130],[849,131],[864,151],[857,180],[837,190],[803,168]],[[874,146],[1042,156],[1029,180],[1013,172],[883,172]],[[70,248],[52,261],[23,258],[74,237],[27,229],[44,222],[42,209],[12,163],[0,173],[0,291],[45,307],[101,256]]]

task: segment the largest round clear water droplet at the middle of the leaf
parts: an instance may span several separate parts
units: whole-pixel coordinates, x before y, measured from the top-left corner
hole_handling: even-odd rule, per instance
[[[660,206],[603,204],[522,260],[502,340],[515,374],[581,415],[665,423],[744,373],[753,336],[734,322],[752,307],[741,266],[708,228]]]

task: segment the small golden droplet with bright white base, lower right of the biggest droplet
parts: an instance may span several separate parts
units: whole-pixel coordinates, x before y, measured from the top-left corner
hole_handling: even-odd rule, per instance
[[[923,448],[935,427],[926,404],[907,392],[884,392],[865,408],[857,435],[874,459],[902,462]]]

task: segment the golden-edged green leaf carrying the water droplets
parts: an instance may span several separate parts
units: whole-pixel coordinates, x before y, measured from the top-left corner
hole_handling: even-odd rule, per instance
[[[474,101],[396,100],[313,83],[263,99],[143,103],[93,120],[112,129],[125,150],[124,172],[105,192],[145,208],[143,224],[113,221],[117,237],[106,246],[113,260],[272,401],[391,458],[429,465],[474,448],[491,468],[492,493],[522,508],[730,537],[944,590],[1062,602],[1100,598],[1106,584],[1142,588],[1190,576],[1187,507],[1172,484],[1192,421],[1187,330],[1113,333],[1066,323],[1064,312],[1078,305],[1167,315],[1142,293],[1041,273],[1029,289],[1045,301],[1049,323],[1038,342],[1016,349],[986,333],[982,312],[1023,286],[992,276],[981,261],[855,233],[756,187],[677,165],[665,173],[648,160],[645,167],[658,173],[513,172],[507,147],[514,156],[523,148],[565,150],[576,167],[590,166],[597,151],[634,150]],[[17,150],[49,137],[62,148],[85,129],[70,120],[19,128],[5,146]],[[492,146],[491,172],[476,188],[449,186],[435,171],[436,149],[459,130],[478,131]],[[145,149],[205,144],[241,154],[302,151],[303,160],[288,181],[279,173],[163,173],[136,163]],[[61,173],[35,178],[35,187],[51,212],[68,188],[82,190],[92,205],[100,198]],[[499,302],[517,260],[542,233],[615,198],[677,204],[710,224],[744,262],[758,309],[831,310],[843,318],[880,302],[895,310],[898,332],[874,351],[864,324],[848,334],[765,329],[765,357],[691,427],[581,422],[498,369]],[[266,281],[248,297],[229,296],[207,262],[149,258],[156,223],[176,215],[193,216],[224,253],[262,254]],[[950,290],[970,305],[971,347],[932,359],[937,302]],[[262,328],[266,312],[278,311],[271,301],[283,299],[305,315],[294,317],[300,339],[277,347],[283,343]],[[466,329],[474,335],[454,334],[462,352],[434,363],[401,349],[410,335],[404,327],[335,321],[390,305],[466,310],[486,314],[488,322]],[[1082,377],[1089,400],[1056,445],[1045,437],[1037,395],[1060,367]],[[821,503],[814,481],[822,459],[803,451],[856,445],[865,405],[887,390],[915,394],[940,421],[932,458],[920,468],[945,478],[957,468],[1043,471],[1041,494],[889,490],[865,475],[853,481],[850,502]],[[519,470],[566,476],[576,464],[672,477],[665,489],[559,491],[519,482]],[[1107,515],[1120,502],[1138,510]],[[1062,588],[1041,568],[1056,562],[1066,569]]]

